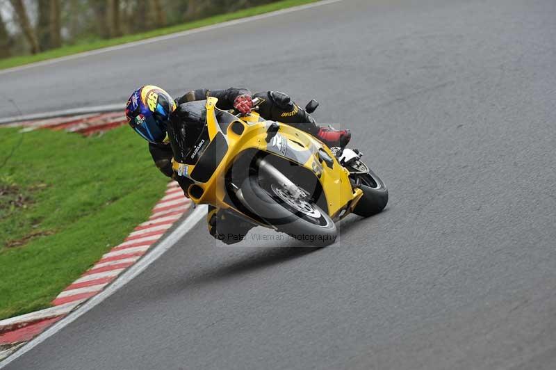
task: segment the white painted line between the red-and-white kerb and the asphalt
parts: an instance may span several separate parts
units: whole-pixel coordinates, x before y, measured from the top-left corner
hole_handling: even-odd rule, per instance
[[[44,330],[44,332],[40,333],[40,335],[35,337],[35,339],[25,344],[19,351],[6,358],[6,360],[4,360],[3,362],[0,362],[0,369],[6,367],[6,365],[10,364],[10,362],[12,362],[13,360],[21,357],[31,349],[35,348],[35,346],[41,344],[47,338],[56,334],[56,332],[65,328],[65,326],[74,322],[80,316],[87,313],[90,309],[101,303],[103,300],[106,300],[106,298],[110,297],[113,293],[115,293],[115,291],[124,287],[125,284],[133,280],[133,278],[135,278],[137,275],[145,271],[145,269],[150,264],[155,262],[167,250],[172,248],[174,244],[179,241],[179,239],[187,234],[193,228],[193,226],[197,225],[197,223],[204,218],[204,216],[206,215],[206,209],[206,205],[197,207],[185,220],[183,220],[183,222],[176,229],[174,229],[172,233],[170,233],[170,235],[163,239],[161,243],[158,243],[158,245],[155,246],[151,252],[145,255],[145,257],[131,266],[125,273],[120,276],[120,278],[117,278],[112,284],[108,285],[106,289],[98,293],[96,296],[90,298],[87,302],[75,309],[74,312],[71,312],[64,319],[56,321],[56,323],[51,325],[51,327],[49,327],[47,330]]]

